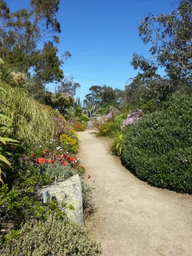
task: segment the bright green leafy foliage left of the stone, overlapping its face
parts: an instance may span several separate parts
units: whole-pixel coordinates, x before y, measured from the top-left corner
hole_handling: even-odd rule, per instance
[[[58,216],[65,215],[63,209],[67,205],[59,205],[56,200],[43,204],[42,198],[35,194],[33,178],[28,178],[28,182],[22,185],[23,188],[15,186],[9,189],[7,184],[0,188],[1,228],[7,228],[10,221],[12,227],[19,228],[28,220],[46,220],[53,212]]]

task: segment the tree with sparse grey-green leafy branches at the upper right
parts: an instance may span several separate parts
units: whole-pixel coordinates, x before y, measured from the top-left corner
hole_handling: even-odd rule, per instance
[[[131,65],[143,70],[145,77],[153,76],[157,67],[164,67],[175,84],[175,90],[192,82],[192,3],[179,1],[177,10],[157,16],[148,13],[139,26],[139,35],[144,44],[152,44],[147,60],[134,53]],[[154,59],[154,60],[153,60]]]

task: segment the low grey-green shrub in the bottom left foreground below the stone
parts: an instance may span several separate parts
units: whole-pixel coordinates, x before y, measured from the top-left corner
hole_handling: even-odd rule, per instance
[[[19,231],[19,239],[10,238],[0,250],[2,256],[97,256],[97,243],[81,225],[67,218],[28,222]]]

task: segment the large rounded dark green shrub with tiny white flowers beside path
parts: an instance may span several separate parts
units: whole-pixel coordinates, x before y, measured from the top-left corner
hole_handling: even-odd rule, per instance
[[[174,95],[162,111],[125,132],[122,162],[150,184],[192,193],[192,98]]]

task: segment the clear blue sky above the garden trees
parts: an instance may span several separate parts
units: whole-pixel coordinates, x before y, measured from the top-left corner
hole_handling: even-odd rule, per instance
[[[6,1],[6,0],[5,0]],[[19,3],[18,3],[19,2]],[[172,0],[60,0],[57,18],[61,24],[59,54],[72,58],[63,65],[65,77],[81,84],[77,95],[83,101],[92,85],[124,90],[138,70],[130,65],[134,52],[150,56],[148,45],[138,36],[138,26],[148,12],[157,15],[177,8]],[[28,7],[27,0],[6,1],[11,12]],[[54,92],[54,84],[49,85]]]

